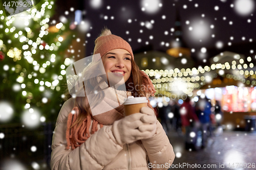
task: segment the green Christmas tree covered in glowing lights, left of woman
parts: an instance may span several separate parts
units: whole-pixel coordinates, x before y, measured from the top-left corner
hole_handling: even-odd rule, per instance
[[[67,19],[51,20],[55,1],[36,3],[12,15],[14,7],[0,2],[2,124],[34,128],[40,122],[55,121],[61,107],[65,69],[71,62],[65,50],[73,34]]]

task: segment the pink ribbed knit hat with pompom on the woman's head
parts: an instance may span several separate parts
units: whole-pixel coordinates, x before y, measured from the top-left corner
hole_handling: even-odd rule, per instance
[[[101,35],[95,40],[95,47],[93,54],[100,54],[102,57],[106,52],[114,49],[123,49],[133,56],[131,45],[119,36],[113,35],[109,29],[104,29]],[[95,61],[93,59],[93,61]]]

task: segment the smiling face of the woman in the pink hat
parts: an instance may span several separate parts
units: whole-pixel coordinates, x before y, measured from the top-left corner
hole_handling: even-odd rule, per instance
[[[117,79],[123,77],[124,82],[130,78],[132,71],[132,55],[126,50],[111,50],[104,54],[101,59],[107,76],[108,72],[112,72],[113,74],[111,75]]]

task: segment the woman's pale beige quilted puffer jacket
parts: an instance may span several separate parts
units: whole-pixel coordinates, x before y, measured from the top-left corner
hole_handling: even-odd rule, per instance
[[[112,134],[112,125],[103,126],[101,129],[98,125],[99,130],[80,147],[66,150],[67,119],[73,106],[74,99],[71,98],[63,104],[57,118],[52,140],[52,170],[168,169],[169,164],[173,163],[173,147],[159,122],[152,138],[122,146],[117,144]],[[152,163],[152,168],[148,168],[148,162]],[[162,164],[162,168],[153,168],[157,164]]]

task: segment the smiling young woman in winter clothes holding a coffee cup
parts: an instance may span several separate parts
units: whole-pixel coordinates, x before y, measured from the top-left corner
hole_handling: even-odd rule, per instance
[[[93,56],[81,76],[68,81],[76,97],[70,95],[59,112],[51,169],[168,169],[175,154],[150,102],[140,113],[124,116],[127,96],[155,93],[130,44],[105,29],[95,40],[94,54],[101,58]]]

